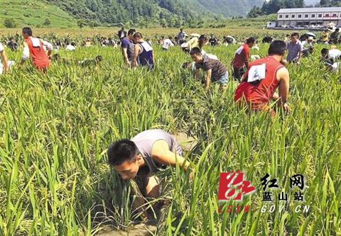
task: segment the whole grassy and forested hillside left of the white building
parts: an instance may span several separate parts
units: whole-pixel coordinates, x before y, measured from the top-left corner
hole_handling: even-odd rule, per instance
[[[0,0],[0,27],[9,18],[17,27],[74,28],[78,20],[93,26],[202,27],[224,17],[245,16],[263,0]],[[48,18],[50,24],[45,21]]]

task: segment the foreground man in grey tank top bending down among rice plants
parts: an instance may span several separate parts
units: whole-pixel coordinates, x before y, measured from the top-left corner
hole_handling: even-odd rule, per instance
[[[108,163],[124,180],[134,180],[134,206],[142,213],[144,220],[151,219],[144,208],[145,198],[155,199],[161,195],[160,180],[155,175],[167,166],[179,167],[186,171],[190,162],[182,157],[182,150],[174,137],[163,130],[146,130],[131,140],[119,140],[107,150]],[[141,196],[142,195],[142,196]],[[158,206],[154,204],[153,210]]]

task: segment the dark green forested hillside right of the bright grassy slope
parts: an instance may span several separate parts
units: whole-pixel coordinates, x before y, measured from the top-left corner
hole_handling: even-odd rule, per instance
[[[75,18],[98,23],[161,23],[180,26],[195,13],[178,0],[47,0]]]

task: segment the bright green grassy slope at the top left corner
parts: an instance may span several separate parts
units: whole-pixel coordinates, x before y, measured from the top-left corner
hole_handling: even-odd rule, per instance
[[[18,27],[70,28],[77,26],[70,14],[45,1],[0,0],[0,6],[0,26],[3,26],[6,18],[13,19]],[[50,20],[50,26],[44,26],[46,18]]]

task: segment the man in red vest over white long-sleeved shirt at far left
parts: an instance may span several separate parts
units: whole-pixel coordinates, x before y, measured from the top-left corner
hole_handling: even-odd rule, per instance
[[[28,58],[31,57],[33,65],[37,69],[43,70],[43,72],[46,73],[48,66],[50,65],[48,57],[50,57],[53,50],[52,44],[39,38],[33,38],[32,30],[28,27],[23,28],[23,38],[25,41],[23,42],[21,66],[26,62],[26,60],[28,60]],[[44,51],[44,45],[48,50],[48,55],[46,55]]]

